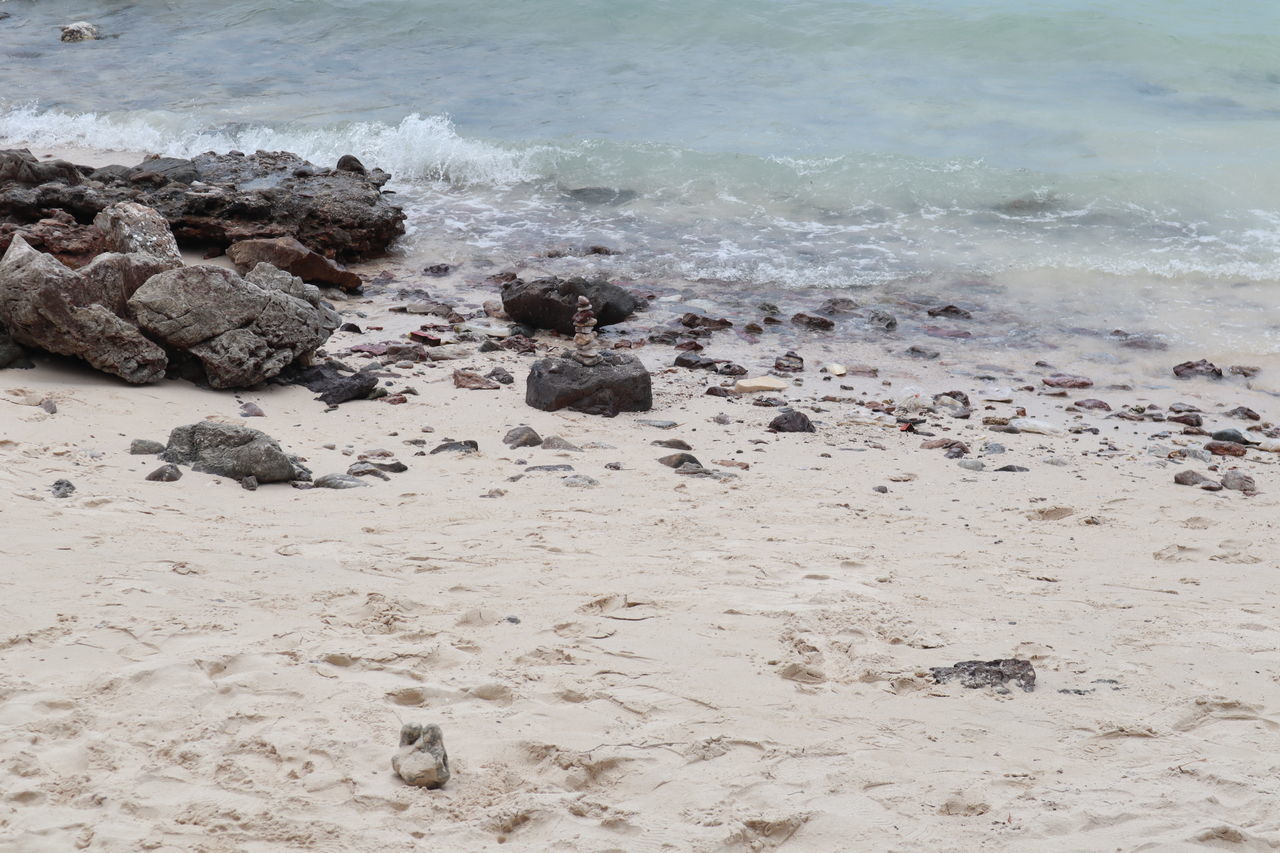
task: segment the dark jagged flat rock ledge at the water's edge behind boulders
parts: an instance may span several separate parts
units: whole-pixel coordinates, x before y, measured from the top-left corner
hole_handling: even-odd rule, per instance
[[[9,174],[15,175],[12,182]],[[88,223],[118,201],[155,207],[179,243],[227,248],[243,240],[292,236],[325,256],[379,255],[404,233],[404,213],[381,192],[385,172],[320,169],[275,151],[155,159],[104,168],[84,181],[70,164],[0,152],[0,219],[33,223],[61,209]]]

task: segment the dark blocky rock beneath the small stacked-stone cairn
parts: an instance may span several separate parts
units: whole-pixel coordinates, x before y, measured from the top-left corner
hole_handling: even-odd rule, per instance
[[[591,366],[575,359],[539,359],[529,370],[525,402],[543,411],[571,409],[612,418],[653,409],[653,380],[639,359],[620,352],[602,352]]]

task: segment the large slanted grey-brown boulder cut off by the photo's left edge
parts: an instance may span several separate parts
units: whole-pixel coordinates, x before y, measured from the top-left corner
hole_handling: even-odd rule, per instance
[[[108,252],[73,270],[15,236],[0,260],[0,325],[19,345],[83,359],[127,382],[155,382],[168,356],[129,321],[128,300],[172,265]]]

